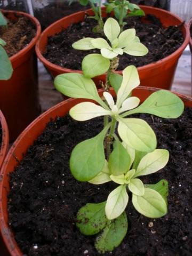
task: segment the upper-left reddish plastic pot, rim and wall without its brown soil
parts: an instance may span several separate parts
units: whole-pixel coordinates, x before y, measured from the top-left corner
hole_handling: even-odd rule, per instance
[[[34,23],[36,35],[31,42],[10,60],[13,75],[8,81],[0,81],[0,109],[6,118],[10,140],[13,141],[39,114],[38,74],[35,44],[41,34],[41,26],[33,16],[14,11],[3,11],[7,18],[26,17]]]

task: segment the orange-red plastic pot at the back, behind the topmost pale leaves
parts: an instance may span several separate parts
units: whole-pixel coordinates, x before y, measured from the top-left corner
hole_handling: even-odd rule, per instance
[[[170,25],[180,25],[183,22],[179,17],[175,16],[171,12],[149,6],[141,5],[140,7],[143,9],[143,11],[145,11],[146,14],[153,14],[159,18],[164,27],[168,27]],[[54,22],[51,26],[43,31],[41,37],[39,38],[36,45],[37,56],[50,71],[53,77],[63,73],[81,73],[81,71],[62,68],[46,60],[43,57],[43,53],[46,50],[47,38],[59,33],[62,29],[69,27],[72,23],[83,21],[86,13],[89,15],[93,14],[92,10],[90,9],[86,12],[82,11],[71,14]],[[103,8],[103,17],[106,17],[105,8]],[[189,42],[189,31],[187,29],[187,25],[182,25],[181,30],[184,42],[177,51],[173,52],[171,55],[162,60],[138,68],[141,86],[155,86],[162,89],[170,89],[179,57]],[[118,73],[122,74],[122,71],[118,71]],[[105,81],[105,77],[105,75],[98,76],[94,78],[94,81],[98,84],[100,80]]]

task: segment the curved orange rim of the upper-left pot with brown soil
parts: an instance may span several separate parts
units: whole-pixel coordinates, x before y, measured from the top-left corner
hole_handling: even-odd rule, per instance
[[[2,10],[3,13],[5,14],[17,14],[19,16],[24,16],[26,18],[28,18],[36,27],[36,35],[35,37],[33,37],[31,39],[31,41],[29,42],[29,44],[27,46],[25,46],[23,49],[21,49],[19,52],[15,53],[14,55],[12,55],[9,59],[10,61],[13,63],[15,60],[17,60],[18,58],[22,57],[26,52],[28,52],[31,48],[33,48],[33,46],[35,46],[37,39],[39,38],[39,36],[41,35],[41,25],[39,23],[39,21],[33,17],[32,15],[25,13],[25,12],[19,12],[19,11],[8,11],[8,10]]]

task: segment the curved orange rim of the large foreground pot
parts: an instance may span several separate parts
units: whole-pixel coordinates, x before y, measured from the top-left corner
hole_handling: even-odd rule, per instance
[[[110,89],[110,90],[113,91],[113,89]],[[155,91],[158,91],[161,89],[158,89],[155,87],[139,86],[139,87],[135,88],[134,90],[145,90],[145,91],[155,92]],[[103,92],[103,89],[98,90],[98,92],[101,94]],[[192,102],[191,97],[188,97],[186,95],[182,95],[179,93],[175,93],[175,94],[177,94],[179,97],[181,97],[184,102],[188,102],[188,101]],[[49,113],[52,113],[56,109],[63,108],[63,106],[65,106],[68,103],[70,104],[73,101],[86,101],[86,99],[69,98],[69,99],[62,101],[62,102],[58,103],[57,105],[51,107],[50,109],[46,110],[43,114],[41,114],[39,117],[37,117],[33,122],[31,122],[26,127],[26,129],[19,135],[17,140],[15,140],[15,142],[13,143],[9,152],[6,155],[5,161],[4,161],[2,169],[1,169],[0,177],[2,177],[2,179],[0,179],[0,198],[2,198],[3,189],[4,189],[2,186],[3,181],[4,181],[4,179],[7,179],[7,177],[8,177],[8,175],[5,176],[4,173],[6,171],[7,166],[9,165],[9,162],[10,162],[10,159],[12,158],[12,156],[14,156],[14,158],[17,158],[17,156],[14,155],[14,150],[15,150],[15,148],[18,147],[18,145],[19,145],[20,141],[23,139],[23,137],[26,137],[26,134],[28,134],[31,129],[34,129],[34,127],[39,122],[39,120],[46,118],[46,116],[48,116]],[[49,117],[48,122],[50,122],[50,117]],[[37,137],[38,137],[38,135],[37,135]],[[29,148],[29,146],[30,145],[28,145],[28,148]],[[17,162],[19,162],[19,160],[17,160]],[[6,174],[8,174],[8,173],[6,173]],[[6,245],[7,250],[9,250],[11,256],[21,256],[22,252],[21,252],[17,242],[15,241],[13,232],[9,228],[8,223],[5,221],[3,209],[4,209],[3,201],[0,200],[0,230],[2,232],[3,241]],[[6,211],[7,211],[7,209],[6,209]],[[7,214],[7,212],[6,212],[6,214]],[[0,232],[0,235],[1,235],[1,232]]]

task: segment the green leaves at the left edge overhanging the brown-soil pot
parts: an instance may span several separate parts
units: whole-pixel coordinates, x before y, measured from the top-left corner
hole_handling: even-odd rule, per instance
[[[7,26],[7,20],[0,11],[0,26]],[[3,48],[6,42],[0,38],[0,80],[8,80],[12,76],[13,69],[11,61]]]

